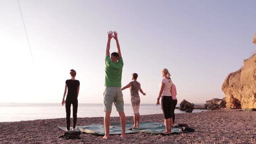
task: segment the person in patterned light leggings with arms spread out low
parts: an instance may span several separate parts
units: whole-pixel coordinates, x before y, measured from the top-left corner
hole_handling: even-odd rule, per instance
[[[122,90],[126,88],[130,88],[130,98],[131,98],[131,106],[132,106],[132,111],[133,111],[133,118],[134,118],[134,125],[132,126],[133,128],[139,127],[139,122],[140,122],[140,96],[139,96],[139,90],[140,92],[145,96],[146,93],[142,91],[140,88],[140,83],[137,81],[138,74],[133,73],[132,74],[132,82],[127,84],[122,88]]]

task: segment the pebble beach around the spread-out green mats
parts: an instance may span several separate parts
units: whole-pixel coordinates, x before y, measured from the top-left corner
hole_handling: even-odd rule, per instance
[[[162,114],[142,115],[141,121],[163,122]],[[132,122],[132,117],[126,118]],[[256,112],[241,112],[235,110],[215,110],[200,113],[176,114],[176,123],[186,123],[195,132],[171,135],[154,135],[146,133],[127,134],[126,138],[120,135],[111,135],[110,140],[102,136],[82,134],[80,140],[65,140],[58,138],[64,133],[57,126],[65,126],[65,118],[48,119],[47,125],[39,125],[42,120],[1,122],[0,144],[83,144],[83,143],[175,143],[175,144],[256,144]],[[112,117],[111,122],[119,122],[119,117]],[[77,126],[103,124],[103,117],[78,118]]]

